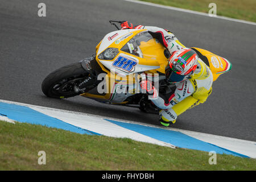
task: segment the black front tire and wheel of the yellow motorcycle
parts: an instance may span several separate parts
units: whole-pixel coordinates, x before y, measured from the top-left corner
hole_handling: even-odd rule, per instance
[[[42,82],[43,93],[52,98],[74,97],[81,93],[75,92],[74,84],[79,84],[89,73],[81,63],[73,63],[50,73]]]

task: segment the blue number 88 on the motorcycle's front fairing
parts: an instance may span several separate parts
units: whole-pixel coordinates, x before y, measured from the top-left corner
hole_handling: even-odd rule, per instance
[[[136,64],[137,62],[134,60],[119,56],[112,65],[113,67],[121,68],[126,72],[131,72]]]

